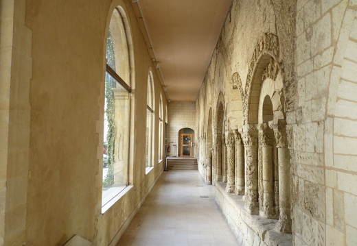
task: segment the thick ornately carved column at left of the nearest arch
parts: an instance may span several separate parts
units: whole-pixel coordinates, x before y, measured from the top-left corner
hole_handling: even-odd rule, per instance
[[[258,214],[258,163],[257,163],[257,126],[243,126],[242,140],[244,143],[245,160],[245,194],[244,208],[250,214]]]

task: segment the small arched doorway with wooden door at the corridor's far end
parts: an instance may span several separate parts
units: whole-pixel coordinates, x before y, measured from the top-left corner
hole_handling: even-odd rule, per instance
[[[182,128],[179,131],[179,156],[194,156],[194,130],[191,128]]]

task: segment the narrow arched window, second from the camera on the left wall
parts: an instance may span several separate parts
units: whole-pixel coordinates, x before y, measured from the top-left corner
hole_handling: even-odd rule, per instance
[[[152,167],[152,136],[154,125],[154,79],[151,71],[148,75],[148,90],[146,93],[146,171]]]

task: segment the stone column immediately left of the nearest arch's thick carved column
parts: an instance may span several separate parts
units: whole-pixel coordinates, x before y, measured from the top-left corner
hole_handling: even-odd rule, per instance
[[[235,138],[235,194],[244,195],[244,145],[238,131]]]

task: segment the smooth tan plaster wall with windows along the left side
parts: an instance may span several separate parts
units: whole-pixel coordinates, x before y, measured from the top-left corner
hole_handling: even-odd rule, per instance
[[[115,245],[163,170],[163,162],[154,162],[145,173],[142,136],[153,64],[131,1],[0,3],[0,244],[63,245],[77,235],[93,245]],[[102,213],[106,35],[117,5],[133,39],[133,187]],[[164,93],[153,75],[159,105]],[[153,144],[158,160],[157,136]]]

